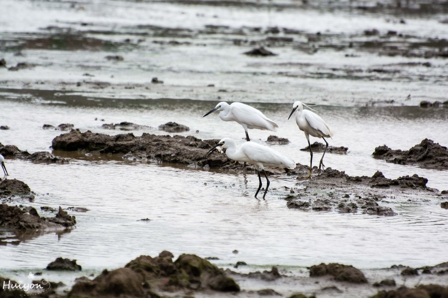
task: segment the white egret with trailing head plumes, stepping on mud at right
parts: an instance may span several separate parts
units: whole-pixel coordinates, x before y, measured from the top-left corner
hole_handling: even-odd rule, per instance
[[[296,123],[297,123],[297,126],[299,126],[299,129],[305,133],[305,137],[307,138],[308,147],[310,148],[310,154],[311,154],[310,172],[309,172],[308,176],[304,178],[304,179],[307,179],[307,178],[311,178],[311,176],[312,176],[311,172],[313,169],[313,150],[311,150],[310,135],[313,137],[316,137],[316,138],[322,138],[325,141],[325,143],[327,144],[325,146],[324,154],[322,154],[321,161],[319,162],[318,174],[320,174],[321,166],[322,166],[322,170],[324,170],[324,167],[325,167],[322,160],[324,159],[325,151],[327,151],[327,148],[328,148],[328,142],[327,142],[327,140],[325,140],[324,137],[331,138],[331,137],[333,137],[334,133],[332,132],[330,127],[327,125],[327,123],[325,123],[324,119],[321,118],[321,116],[319,116],[318,114],[316,114],[310,110],[304,110],[303,106],[310,108],[305,103],[296,101],[293,104],[293,110],[291,111],[291,114],[289,115],[288,120],[289,120],[289,118],[291,118],[292,114],[294,114],[294,112],[297,110]]]

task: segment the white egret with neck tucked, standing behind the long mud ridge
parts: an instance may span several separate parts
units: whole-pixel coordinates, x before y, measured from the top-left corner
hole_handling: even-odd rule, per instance
[[[216,110],[222,110],[220,112],[221,120],[235,121],[241,124],[244,128],[244,132],[246,133],[246,141],[250,141],[249,135],[247,134],[247,129],[249,128],[270,130],[275,132],[278,127],[274,121],[264,116],[264,114],[259,110],[240,102],[233,102],[229,105],[228,103],[222,101],[203,117],[213,113]]]

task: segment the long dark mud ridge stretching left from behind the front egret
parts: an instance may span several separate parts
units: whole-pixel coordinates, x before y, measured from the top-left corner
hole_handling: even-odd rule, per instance
[[[65,151],[98,151],[100,153],[123,154],[123,158],[149,160],[155,162],[174,162],[181,164],[209,165],[221,167],[228,161],[224,154],[213,153],[204,159],[207,151],[219,140],[200,140],[188,136],[156,136],[143,133],[141,137],[133,134],[109,136],[94,134],[90,131],[81,133],[72,130],[53,139],[52,147]]]

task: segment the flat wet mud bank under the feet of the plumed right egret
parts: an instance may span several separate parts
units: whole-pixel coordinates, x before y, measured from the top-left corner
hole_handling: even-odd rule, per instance
[[[315,172],[317,168],[314,167]],[[288,175],[306,176],[308,167],[299,165]],[[435,205],[447,200],[445,192],[426,186],[428,179],[416,174],[389,179],[377,171],[372,177],[348,176],[343,171],[328,168],[312,179],[289,189],[286,206],[302,211],[337,211],[376,216],[394,216],[391,202],[418,203],[423,198]]]

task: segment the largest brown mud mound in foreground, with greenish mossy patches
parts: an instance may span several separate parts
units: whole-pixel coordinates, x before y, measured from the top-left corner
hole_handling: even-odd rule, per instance
[[[196,255],[163,251],[158,257],[139,256],[124,268],[104,270],[94,280],[81,279],[69,296],[158,297],[154,291],[204,290],[238,292],[239,286],[223,270]]]

